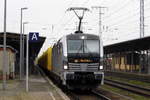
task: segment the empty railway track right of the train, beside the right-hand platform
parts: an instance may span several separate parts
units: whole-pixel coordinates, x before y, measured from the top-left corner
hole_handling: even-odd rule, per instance
[[[117,87],[120,89],[124,89],[130,92],[139,94],[139,95],[150,97],[150,89],[147,89],[147,88],[143,88],[143,87],[139,87],[136,85],[131,85],[131,84],[123,83],[119,81],[114,81],[110,79],[105,79],[104,83],[107,85],[111,85],[113,87]]]

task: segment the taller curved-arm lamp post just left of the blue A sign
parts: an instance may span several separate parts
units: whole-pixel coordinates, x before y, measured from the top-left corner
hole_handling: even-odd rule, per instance
[[[23,56],[23,53],[22,53],[22,51],[23,51],[23,46],[22,46],[22,13],[23,13],[23,10],[26,10],[26,9],[28,9],[28,8],[21,8],[21,19],[20,19],[20,80],[21,80],[21,78],[22,78],[22,56]]]

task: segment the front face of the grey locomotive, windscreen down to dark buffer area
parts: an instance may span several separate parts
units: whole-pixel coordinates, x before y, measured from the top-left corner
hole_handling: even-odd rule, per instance
[[[95,35],[72,34],[66,39],[63,84],[69,88],[92,89],[103,84],[100,39]]]

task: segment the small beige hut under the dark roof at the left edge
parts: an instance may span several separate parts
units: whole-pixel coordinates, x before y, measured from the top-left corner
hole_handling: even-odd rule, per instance
[[[3,46],[0,45],[0,80],[3,75]],[[16,61],[16,50],[11,46],[6,47],[6,75],[7,79],[13,79],[15,77],[15,61]]]

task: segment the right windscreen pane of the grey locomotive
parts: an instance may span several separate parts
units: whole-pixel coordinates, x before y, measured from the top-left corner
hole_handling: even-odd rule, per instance
[[[99,53],[99,40],[84,40],[85,53]]]

